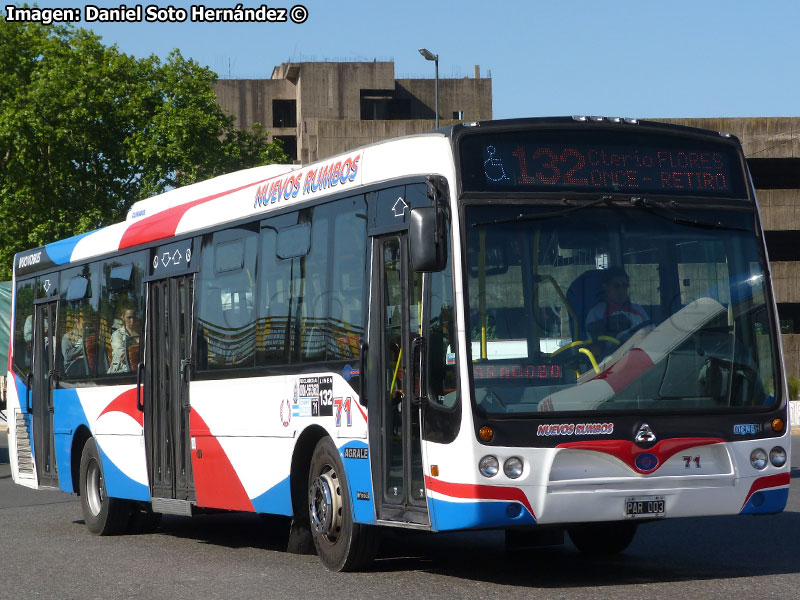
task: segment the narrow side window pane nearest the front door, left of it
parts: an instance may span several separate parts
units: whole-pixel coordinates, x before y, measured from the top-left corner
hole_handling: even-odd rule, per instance
[[[331,260],[328,359],[358,358],[364,335],[367,263],[367,206],[363,196],[336,202]]]

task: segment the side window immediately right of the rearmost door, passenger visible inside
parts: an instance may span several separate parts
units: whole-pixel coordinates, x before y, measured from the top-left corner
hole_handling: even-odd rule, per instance
[[[61,273],[56,356],[65,380],[87,379],[97,373],[98,267],[94,263]]]

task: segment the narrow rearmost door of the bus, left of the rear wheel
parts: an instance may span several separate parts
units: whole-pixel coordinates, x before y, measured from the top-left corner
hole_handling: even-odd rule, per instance
[[[53,437],[53,388],[56,384],[56,315],[58,302],[37,304],[33,316],[33,456],[39,486],[58,486],[55,438]]]

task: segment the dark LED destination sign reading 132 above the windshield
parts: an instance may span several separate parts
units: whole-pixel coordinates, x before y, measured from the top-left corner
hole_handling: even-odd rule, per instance
[[[732,146],[667,135],[525,131],[465,136],[461,166],[465,191],[746,198],[744,171]]]

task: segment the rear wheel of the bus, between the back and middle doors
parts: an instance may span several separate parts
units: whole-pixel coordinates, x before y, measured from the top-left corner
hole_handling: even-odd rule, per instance
[[[133,503],[108,497],[103,463],[94,438],[89,438],[83,446],[80,469],[81,509],[86,527],[97,535],[124,532],[131,522]]]

